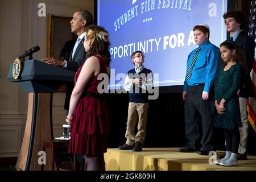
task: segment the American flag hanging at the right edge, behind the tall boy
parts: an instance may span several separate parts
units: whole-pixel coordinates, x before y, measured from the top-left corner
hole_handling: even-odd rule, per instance
[[[250,19],[249,19],[249,36],[254,38],[254,46],[255,46],[255,53],[256,53],[256,1],[251,1],[250,7]],[[256,63],[254,61],[253,71],[251,72],[251,80],[253,81],[254,86],[254,93],[256,96]],[[250,98],[247,104],[247,111],[248,111],[248,119],[253,126],[254,131],[256,132],[256,97]]]

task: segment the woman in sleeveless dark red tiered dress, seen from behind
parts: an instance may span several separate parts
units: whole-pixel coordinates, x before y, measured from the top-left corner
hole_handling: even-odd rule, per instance
[[[109,110],[101,94],[109,84],[108,32],[100,26],[88,26],[84,47],[87,59],[76,72],[66,118],[71,125],[69,152],[84,155],[86,170],[102,171],[105,170],[104,152],[109,133]]]

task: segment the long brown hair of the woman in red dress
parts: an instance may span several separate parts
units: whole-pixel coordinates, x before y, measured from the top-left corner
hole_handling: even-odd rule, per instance
[[[109,66],[111,58],[108,31],[104,27],[92,24],[86,28],[86,39],[92,41],[89,51],[86,52],[86,57],[100,55],[104,57],[106,65]]]

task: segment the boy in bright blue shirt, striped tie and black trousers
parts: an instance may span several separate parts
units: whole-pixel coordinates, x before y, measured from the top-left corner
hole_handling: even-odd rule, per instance
[[[194,49],[187,60],[187,74],[184,81],[183,100],[185,100],[185,148],[180,152],[195,152],[208,155],[213,150],[213,119],[215,114],[213,101],[213,84],[220,59],[220,49],[209,41],[210,29],[207,24],[199,24],[193,28],[195,42],[199,46]],[[201,150],[199,122],[203,135]]]

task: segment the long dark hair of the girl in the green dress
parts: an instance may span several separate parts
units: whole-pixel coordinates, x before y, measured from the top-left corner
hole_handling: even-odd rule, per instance
[[[246,64],[245,54],[243,53],[242,49],[239,48],[237,46],[236,42],[234,42],[233,40],[226,40],[225,42],[222,42],[220,44],[220,47],[221,46],[225,46],[226,48],[228,48],[230,50],[236,50],[236,53],[234,53],[232,59],[235,63],[242,65],[243,74],[245,76],[247,74],[247,64]],[[224,62],[224,65],[226,65],[226,64],[228,64],[228,63]]]

